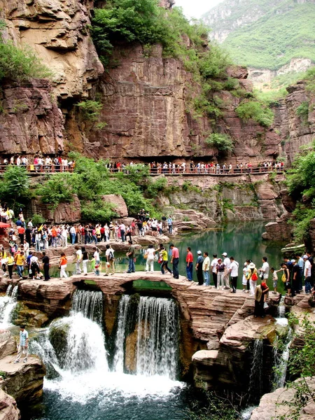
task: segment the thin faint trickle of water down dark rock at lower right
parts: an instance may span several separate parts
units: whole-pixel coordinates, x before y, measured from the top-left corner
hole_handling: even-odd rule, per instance
[[[251,373],[249,375],[248,394],[250,400],[258,400],[262,395],[262,339],[255,339],[253,345],[253,357],[251,362]]]

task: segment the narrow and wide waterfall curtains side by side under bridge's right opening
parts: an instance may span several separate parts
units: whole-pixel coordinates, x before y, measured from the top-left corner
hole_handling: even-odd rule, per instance
[[[128,330],[128,325],[133,311],[137,310],[134,319],[134,332],[137,337],[136,374],[176,379],[179,322],[174,300],[141,296],[137,309],[131,304],[131,300],[132,297],[129,295],[124,295],[120,299],[113,370],[124,371],[125,341],[127,334],[133,332]]]

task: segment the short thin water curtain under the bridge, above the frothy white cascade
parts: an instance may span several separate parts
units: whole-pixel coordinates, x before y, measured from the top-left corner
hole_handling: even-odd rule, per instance
[[[71,310],[102,325],[103,294],[93,290],[76,290],[72,297]]]

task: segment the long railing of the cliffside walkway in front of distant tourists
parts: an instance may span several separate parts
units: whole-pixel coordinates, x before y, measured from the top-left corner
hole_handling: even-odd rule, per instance
[[[10,165],[0,165],[0,173],[5,172],[5,170]],[[23,165],[21,165],[23,167]],[[25,166],[27,172],[31,175],[36,174],[56,174],[60,172],[73,172],[73,165],[71,166],[58,166],[58,165],[27,165]],[[126,168],[109,168],[109,172],[123,172],[129,174],[130,172]],[[275,172],[276,174],[281,174],[284,172],[284,167],[248,167],[248,168],[150,168],[150,175],[166,175],[166,176],[176,176],[176,175],[214,175],[214,176],[229,176],[229,175],[241,175],[241,174],[267,174],[270,172]]]

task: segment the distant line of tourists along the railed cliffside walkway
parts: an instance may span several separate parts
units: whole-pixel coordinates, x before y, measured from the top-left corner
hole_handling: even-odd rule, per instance
[[[76,162],[69,160],[66,156],[11,156],[10,159],[0,160],[0,167],[5,169],[8,165],[26,167],[30,172],[73,172]],[[134,162],[106,162],[106,167],[110,172],[128,172],[129,167],[143,165],[148,167],[151,174],[241,174],[247,172],[282,172],[284,162],[265,161],[265,162],[150,162],[139,164]]]

